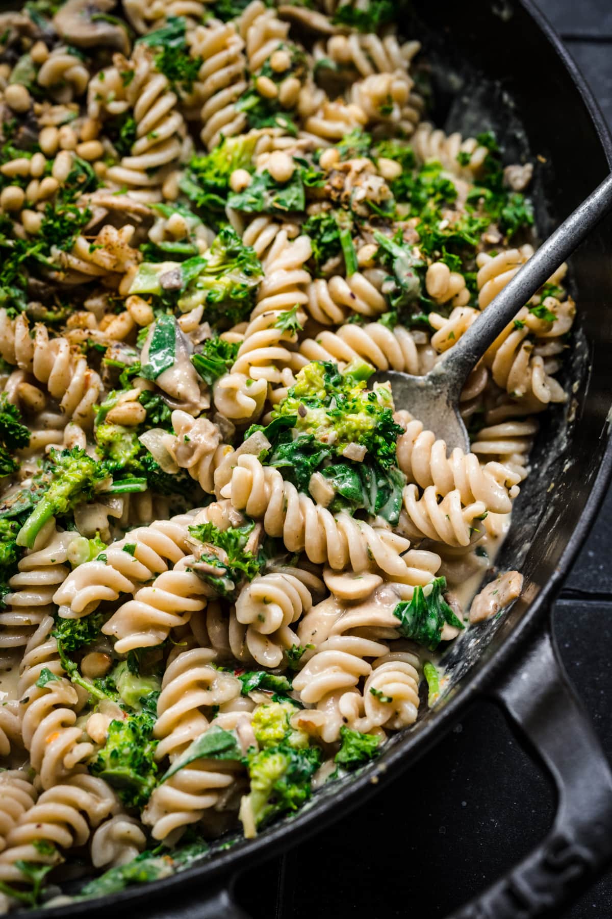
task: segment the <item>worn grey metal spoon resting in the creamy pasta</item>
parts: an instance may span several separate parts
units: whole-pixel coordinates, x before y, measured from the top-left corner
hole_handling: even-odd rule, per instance
[[[470,449],[470,439],[459,414],[459,399],[470,371],[497,335],[572,255],[612,207],[612,175],[573,211],[476,317],[470,328],[424,377],[398,370],[380,370],[372,382],[389,381],[395,408],[406,408],[425,428],[446,441],[449,448]],[[602,256],[605,257],[605,256]]]

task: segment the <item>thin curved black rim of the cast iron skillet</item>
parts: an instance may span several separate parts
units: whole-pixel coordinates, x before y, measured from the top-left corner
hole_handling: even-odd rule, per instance
[[[561,37],[552,28],[548,19],[535,6],[533,0],[518,0],[518,3],[524,7],[536,28],[539,28],[540,32],[549,41],[562,66],[570,75],[573,85],[578,89],[584,107],[595,126],[595,131],[606,154],[608,165],[612,169],[612,135],[595,101],[595,97],[583,74],[573,61],[570,51],[565,47]],[[241,840],[227,850],[216,852],[211,860],[203,861],[193,868],[188,868],[171,877],[150,881],[142,886],[128,887],[125,891],[118,891],[94,900],[29,911],[27,913],[28,917],[30,919],[43,919],[43,917],[59,919],[61,916],[83,915],[85,912],[95,915],[103,909],[107,911],[109,907],[115,906],[117,906],[117,910],[123,912],[125,908],[129,907],[130,903],[152,900],[156,896],[162,899],[168,894],[172,894],[172,892],[190,891],[193,893],[198,881],[205,881],[206,886],[209,885],[212,891],[215,887],[214,879],[222,878],[223,876],[227,877],[234,872],[239,873],[240,869],[245,868],[247,860],[252,866],[266,857],[273,857],[282,848],[286,849],[288,836],[294,841],[296,837],[304,841],[309,836],[325,829],[330,823],[338,820],[341,813],[347,813],[362,804],[384,782],[392,777],[397,777],[417,759],[427,754],[438,743],[442,735],[451,730],[452,725],[461,717],[462,712],[473,703],[474,698],[484,695],[494,685],[495,679],[503,674],[508,664],[525,647],[532,636],[538,630],[546,627],[551,602],[559,593],[562,581],[584,543],[586,534],[594,522],[595,515],[603,501],[611,478],[612,439],[608,437],[584,510],[562,552],[560,562],[548,583],[542,587],[540,594],[530,604],[523,618],[517,622],[504,644],[496,649],[488,660],[478,661],[470,672],[462,677],[461,688],[439,710],[435,718],[423,724],[417,733],[406,733],[401,740],[394,743],[384,752],[375,765],[356,775],[351,781],[339,786],[335,796],[318,802],[315,798],[306,810],[298,812],[295,817],[285,818],[284,821],[264,831],[255,839]],[[212,883],[210,883],[211,881]],[[205,891],[203,891],[203,894],[206,897]]]

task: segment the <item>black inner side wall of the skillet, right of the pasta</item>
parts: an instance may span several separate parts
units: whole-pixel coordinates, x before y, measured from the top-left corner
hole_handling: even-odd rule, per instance
[[[530,192],[540,237],[546,237],[609,170],[580,91],[557,52],[518,2],[467,0],[459,5],[442,0],[431,5],[416,0],[411,12],[406,38],[416,37],[424,45],[431,68],[432,119],[464,136],[495,130],[508,162],[529,158],[534,163]],[[532,472],[497,560],[499,569],[518,568],[525,574],[523,597],[508,616],[455,642],[447,656],[451,683],[484,648],[486,656],[495,650],[551,578],[594,482],[606,448],[612,394],[610,253],[608,219],[570,263],[578,307],[562,380],[570,398],[540,418]]]

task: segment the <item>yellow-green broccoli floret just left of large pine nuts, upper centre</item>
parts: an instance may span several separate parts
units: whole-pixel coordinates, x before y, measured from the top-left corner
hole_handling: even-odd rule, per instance
[[[229,176],[250,167],[256,142],[255,134],[226,137],[206,156],[192,157],[179,187],[204,212],[207,223],[225,220]]]

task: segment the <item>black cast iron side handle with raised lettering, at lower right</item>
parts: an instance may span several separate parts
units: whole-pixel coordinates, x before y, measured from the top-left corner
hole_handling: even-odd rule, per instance
[[[449,919],[559,915],[612,861],[612,773],[550,631],[535,637],[493,695],[550,770],[557,813],[529,856]]]

